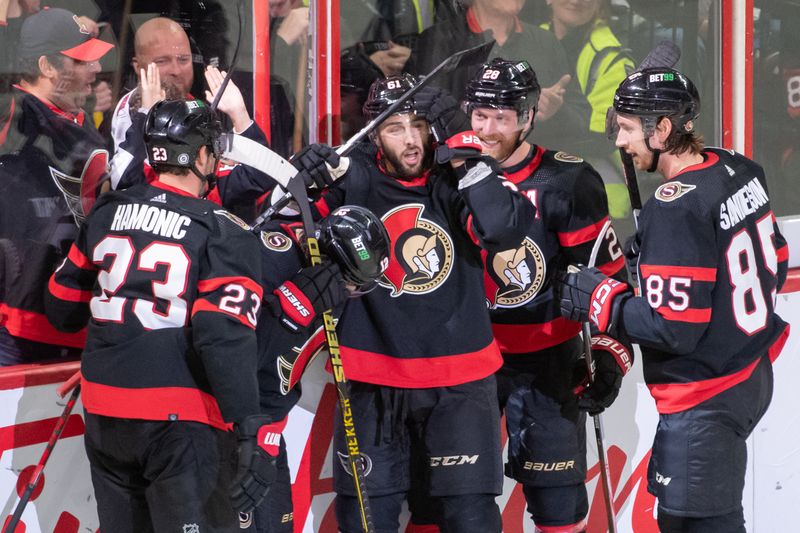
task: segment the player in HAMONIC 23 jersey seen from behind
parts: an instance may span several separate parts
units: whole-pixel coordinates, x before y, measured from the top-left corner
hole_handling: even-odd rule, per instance
[[[258,243],[198,198],[221,132],[202,102],[156,104],[145,131],[158,179],[100,198],[51,278],[47,316],[68,331],[91,318],[81,372],[101,528],[238,531],[235,511],[275,477],[280,433],[259,408]],[[295,297],[323,311],[315,286],[299,285]]]

